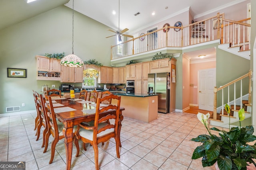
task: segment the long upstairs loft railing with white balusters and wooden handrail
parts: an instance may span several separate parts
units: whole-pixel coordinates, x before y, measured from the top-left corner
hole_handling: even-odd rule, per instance
[[[185,47],[220,39],[232,47],[250,50],[250,18],[242,21],[224,19],[217,14],[206,20],[196,21],[187,26],[167,26],[145,35],[132,38],[111,46],[111,60],[137,55],[166,47]]]

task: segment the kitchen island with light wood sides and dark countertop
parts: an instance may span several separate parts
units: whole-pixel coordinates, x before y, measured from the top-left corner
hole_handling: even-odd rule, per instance
[[[151,122],[157,119],[158,95],[138,93],[113,93],[121,96],[120,107],[124,117],[130,117],[144,122]],[[114,102],[114,101],[113,101]]]

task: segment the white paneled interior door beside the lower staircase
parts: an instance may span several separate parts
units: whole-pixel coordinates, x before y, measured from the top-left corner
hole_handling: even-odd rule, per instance
[[[216,68],[198,71],[198,108],[213,111],[214,93],[216,86]]]

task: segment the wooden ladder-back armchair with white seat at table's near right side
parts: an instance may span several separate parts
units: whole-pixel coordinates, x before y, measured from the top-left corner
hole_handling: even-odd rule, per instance
[[[104,100],[117,100],[116,105],[108,105],[104,107],[100,107],[100,103]],[[94,160],[95,160],[95,169],[99,170],[98,164],[98,144],[102,142],[108,141],[110,138],[114,138],[116,141],[116,155],[120,158],[119,153],[119,143],[120,139],[118,137],[118,121],[119,121],[119,113],[120,113],[120,101],[121,96],[117,96],[114,94],[110,94],[109,96],[105,96],[103,98],[97,98],[97,105],[96,105],[96,113],[94,119],[93,126],[86,126],[86,125],[78,125],[74,138],[74,143],[76,145],[76,157],[79,155],[79,144],[78,140],[82,140],[84,150],[86,150],[86,143],[90,143],[94,149]],[[108,109],[114,109],[116,114],[108,114],[104,117],[100,117],[100,113],[107,111]],[[107,120],[114,119],[114,124],[106,123]]]

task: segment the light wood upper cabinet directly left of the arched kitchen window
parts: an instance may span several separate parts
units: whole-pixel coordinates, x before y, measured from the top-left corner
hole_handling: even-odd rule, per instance
[[[83,82],[83,67],[74,68],[68,66],[61,66],[61,82]]]

